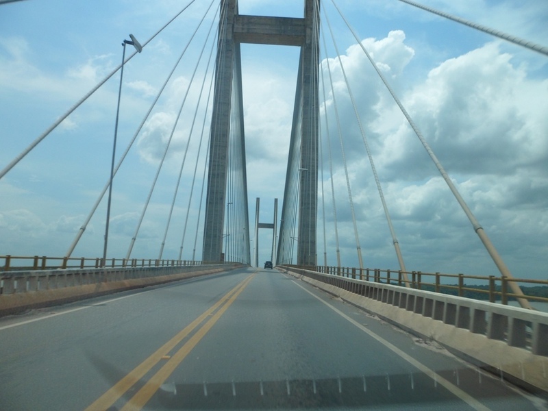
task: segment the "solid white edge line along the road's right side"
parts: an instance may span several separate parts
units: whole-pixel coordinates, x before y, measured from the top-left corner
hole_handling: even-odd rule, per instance
[[[364,327],[363,325],[358,323],[358,321],[355,321],[355,320],[351,319],[349,316],[347,316],[347,314],[345,314],[344,312],[338,310],[338,308],[335,308],[334,306],[329,304],[327,301],[324,301],[323,299],[321,299],[320,297],[315,295],[313,292],[310,292],[309,290],[307,290],[306,288],[301,286],[301,284],[297,284],[297,282],[295,280],[292,280],[292,283],[295,284],[296,286],[299,286],[300,288],[302,288],[306,292],[308,292],[308,294],[312,295],[312,297],[314,297],[315,299],[318,299],[319,301],[324,303],[327,307],[331,308],[334,312],[336,312],[337,314],[342,316],[343,319],[349,321],[349,323],[352,323],[353,325],[356,325],[356,327],[358,327],[364,333],[371,336],[371,338],[375,338],[375,340],[377,340],[379,343],[384,345],[386,348],[390,349],[390,351],[393,351],[393,353],[397,354],[397,356],[403,358],[403,360],[406,360],[407,362],[409,362],[410,364],[415,366],[417,369],[419,369],[420,371],[422,371],[423,373],[428,375],[430,378],[434,379],[434,382],[436,382],[436,383],[439,382],[440,385],[444,386],[447,390],[449,390],[449,392],[451,392],[453,395],[456,395],[456,397],[459,397],[460,399],[462,399],[462,401],[467,403],[469,406],[471,406],[475,410],[482,410],[482,411],[489,411],[490,410],[489,408],[484,406],[484,404],[477,401],[477,399],[475,399],[471,395],[465,393],[463,390],[458,388],[458,386],[455,386],[455,385],[451,384],[451,382],[447,381],[447,379],[445,379],[445,378],[441,377],[440,375],[438,375],[436,373],[436,371],[434,371],[432,369],[429,369],[422,362],[419,362],[419,361],[415,360],[412,356],[409,356],[407,353],[401,351],[401,349],[399,349],[398,347],[396,347],[392,343],[388,343],[387,340],[385,340],[381,336],[375,334],[370,329],[367,329],[366,327]]]

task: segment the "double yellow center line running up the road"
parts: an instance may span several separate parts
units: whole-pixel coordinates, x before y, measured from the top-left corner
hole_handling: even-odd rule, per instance
[[[104,411],[110,406],[112,406],[116,401],[118,401],[129,388],[132,388],[136,382],[138,382],[142,377],[145,376],[158,362],[165,360],[166,356],[169,355],[171,350],[173,350],[179,343],[184,340],[190,333],[192,333],[203,321],[205,321],[208,316],[211,318],[204,323],[198,330],[195,332],[192,337],[184,343],[184,345],[179,348],[179,350],[169,358],[169,360],[145,383],[140,390],[130,399],[125,406],[122,408],[122,411],[129,410],[140,410],[145,404],[151,399],[156,390],[164,383],[164,381],[175,371],[177,366],[184,360],[188,353],[192,351],[194,347],[199,343],[199,341],[205,336],[213,325],[221,318],[225,311],[232,305],[234,300],[238,298],[240,292],[251,282],[251,279],[255,276],[255,273],[246,277],[240,284],[232,288],[227,294],[217,301],[211,308],[203,312],[195,321],[192,321],[184,329],[182,329],[177,335],[175,335],[171,340],[162,345],[157,351],[155,351],[149,358],[143,361],[141,364],[136,366],[133,371],[128,373],[123,377],[119,382],[114,384],[106,393],[101,395],[94,403],[92,403],[85,411]]]

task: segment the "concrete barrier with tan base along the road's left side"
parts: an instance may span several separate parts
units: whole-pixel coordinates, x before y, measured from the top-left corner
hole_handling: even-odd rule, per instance
[[[0,277],[0,316],[236,269],[242,264],[10,271]]]

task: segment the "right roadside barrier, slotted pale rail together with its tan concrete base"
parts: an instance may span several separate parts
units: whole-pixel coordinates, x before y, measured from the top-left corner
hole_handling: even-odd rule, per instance
[[[524,388],[548,393],[548,313],[278,266]]]

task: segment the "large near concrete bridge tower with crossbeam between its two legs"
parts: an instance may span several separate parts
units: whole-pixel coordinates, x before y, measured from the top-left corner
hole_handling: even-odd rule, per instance
[[[227,193],[229,145],[232,138],[241,142],[244,159],[241,186],[246,191],[245,145],[242,113],[240,44],[285,45],[301,48],[295,112],[286,192],[278,249],[297,240],[297,264],[316,264],[316,216],[318,182],[318,67],[319,0],[304,0],[304,17],[245,16],[238,13],[238,0],[221,0],[216,79],[210,135],[210,163],[203,232],[203,261],[220,261],[223,251],[223,223]],[[232,146],[234,147],[234,146]],[[234,155],[234,154],[233,154]],[[290,233],[290,187],[298,181],[298,234]],[[297,201],[297,200],[296,200]],[[297,203],[293,201],[294,203]],[[284,226],[285,222],[285,226]],[[295,223],[295,221],[293,221]],[[249,223],[246,223],[249,225]],[[284,234],[285,230],[285,234]],[[249,226],[247,227],[249,233]],[[279,261],[278,252],[278,262]]]

